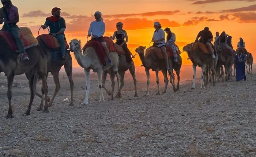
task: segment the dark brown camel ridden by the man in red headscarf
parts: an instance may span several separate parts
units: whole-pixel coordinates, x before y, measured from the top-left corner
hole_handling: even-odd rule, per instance
[[[55,83],[55,91],[53,93],[52,99],[50,100],[49,103],[49,107],[53,106],[53,100],[55,98],[55,96],[57,95],[58,91],[60,90],[60,81],[59,81],[59,72],[61,67],[64,65],[64,69],[65,72],[67,73],[68,76],[68,80],[69,80],[69,84],[70,84],[70,90],[71,90],[71,101],[69,106],[73,106],[73,87],[74,87],[74,83],[73,83],[73,79],[72,79],[72,57],[69,54],[68,51],[66,51],[66,59],[65,60],[61,60],[61,53],[56,52],[56,58],[53,57],[55,52],[53,49],[50,49],[46,46],[45,42],[42,41],[41,38],[38,39],[38,43],[41,45],[41,47],[43,48],[44,52],[47,55],[47,73],[51,73],[53,76],[53,80]],[[36,84],[36,83],[35,83]],[[35,86],[36,87],[36,86]],[[36,89],[36,88],[35,88]],[[35,90],[36,91],[36,90]],[[43,97],[42,95],[40,95],[39,93],[36,92],[36,95],[41,97],[41,103],[43,102]]]

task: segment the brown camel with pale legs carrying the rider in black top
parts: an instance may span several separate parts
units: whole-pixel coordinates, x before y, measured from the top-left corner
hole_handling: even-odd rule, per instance
[[[188,53],[188,57],[193,63],[193,84],[191,89],[195,89],[196,87],[196,66],[199,66],[202,69],[201,72],[201,88],[205,88],[206,80],[204,77],[206,66],[209,66],[211,69],[211,78],[212,84],[215,85],[215,62],[216,59],[212,58],[212,55],[203,53],[199,48],[193,51],[194,43],[188,44],[183,47],[183,51]]]

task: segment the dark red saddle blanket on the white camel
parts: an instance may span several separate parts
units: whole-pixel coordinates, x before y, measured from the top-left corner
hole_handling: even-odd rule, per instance
[[[106,42],[109,52],[116,52],[114,48],[114,42],[112,41],[112,39],[110,39],[109,37],[103,37],[103,39]],[[106,53],[101,43],[98,41],[90,40],[84,45],[83,52],[85,52],[85,50],[88,47],[93,47],[95,49],[95,52],[99,58],[99,61],[101,62],[101,64],[103,64],[105,62]]]

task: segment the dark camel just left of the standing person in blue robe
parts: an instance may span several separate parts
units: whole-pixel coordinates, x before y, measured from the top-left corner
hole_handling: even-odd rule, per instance
[[[217,62],[216,70],[219,71],[222,68],[222,65],[224,65],[225,81],[228,81],[230,80],[232,75],[232,65],[234,63],[233,54],[230,55],[229,54],[230,52],[223,46],[216,47],[216,50],[218,53],[218,62]],[[224,77],[222,77],[222,81],[224,82]]]

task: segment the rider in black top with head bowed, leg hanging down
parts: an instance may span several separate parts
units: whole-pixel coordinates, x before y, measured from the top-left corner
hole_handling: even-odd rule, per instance
[[[209,30],[209,27],[204,27],[204,30],[200,31],[196,37],[196,41],[198,42],[198,39],[200,38],[199,42],[204,43],[204,45],[206,45],[208,47],[208,49],[210,50],[211,54],[212,54],[212,58],[215,59],[215,55],[214,55],[214,50],[212,49],[212,33]]]

